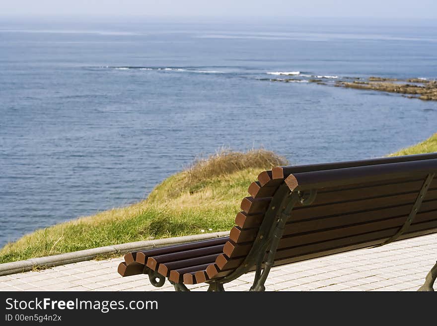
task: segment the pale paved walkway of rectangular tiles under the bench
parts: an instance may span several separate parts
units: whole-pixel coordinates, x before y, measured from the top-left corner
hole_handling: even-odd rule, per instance
[[[272,268],[266,291],[416,291],[436,259],[434,234]],[[0,276],[0,291],[173,291],[168,281],[161,288],[153,287],[146,275],[121,277],[117,273],[120,261],[82,261]],[[224,288],[247,291],[252,281],[253,273],[249,273]],[[207,286],[188,287],[205,291]]]

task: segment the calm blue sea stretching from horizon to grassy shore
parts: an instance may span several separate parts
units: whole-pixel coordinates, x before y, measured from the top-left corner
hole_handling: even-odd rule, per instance
[[[437,78],[436,26],[60,21],[0,19],[0,245],[143,199],[221,146],[305,164],[437,131],[436,102],[332,86]]]

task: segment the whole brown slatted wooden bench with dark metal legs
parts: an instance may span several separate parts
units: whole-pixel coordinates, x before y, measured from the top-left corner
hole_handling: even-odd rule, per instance
[[[255,270],[264,291],[272,266],[437,232],[437,153],[276,167],[249,186],[228,237],[125,255],[122,276],[165,278],[177,291],[209,291]],[[433,290],[437,264],[420,290]]]

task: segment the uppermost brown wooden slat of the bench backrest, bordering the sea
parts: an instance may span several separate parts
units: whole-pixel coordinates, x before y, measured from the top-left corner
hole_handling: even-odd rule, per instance
[[[383,158],[357,160],[357,161],[318,163],[318,164],[295,165],[295,166],[281,166],[281,167],[275,167],[272,169],[271,178],[272,179],[285,179],[292,173],[302,173],[302,172],[310,172],[310,171],[325,171],[325,170],[332,170],[332,169],[343,169],[343,168],[371,166],[371,165],[379,165],[379,164],[387,164],[387,163],[420,161],[420,160],[429,160],[429,159],[436,159],[436,158],[437,158],[437,153],[427,153],[427,154],[417,154],[417,155],[383,157]]]

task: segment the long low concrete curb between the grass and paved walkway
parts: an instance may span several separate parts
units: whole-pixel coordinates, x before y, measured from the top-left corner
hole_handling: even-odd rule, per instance
[[[225,231],[225,232],[203,233],[203,234],[196,234],[196,235],[176,237],[176,238],[137,241],[137,242],[120,244],[120,245],[80,250],[80,251],[75,251],[73,253],[31,258],[25,261],[6,262],[0,264],[0,276],[21,273],[21,272],[32,270],[33,268],[36,267],[53,267],[53,266],[65,265],[78,261],[89,261],[96,258],[99,255],[108,255],[108,254],[122,255],[131,251],[140,251],[140,250],[147,250],[157,247],[176,245],[185,242],[208,240],[218,237],[225,237],[228,235],[229,235],[229,231]]]

